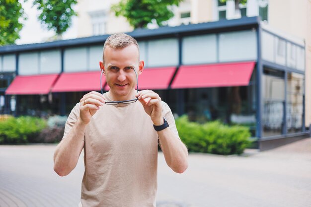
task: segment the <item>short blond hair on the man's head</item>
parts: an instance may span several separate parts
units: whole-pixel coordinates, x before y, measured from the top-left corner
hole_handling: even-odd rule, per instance
[[[135,45],[137,47],[138,61],[139,61],[140,60],[139,59],[139,46],[138,46],[137,41],[133,37],[131,37],[130,35],[124,34],[124,33],[117,33],[117,34],[110,35],[104,44],[104,49],[103,49],[103,54],[102,54],[103,62],[105,63],[104,52],[105,52],[106,47],[110,47],[113,49],[122,49],[130,45]]]

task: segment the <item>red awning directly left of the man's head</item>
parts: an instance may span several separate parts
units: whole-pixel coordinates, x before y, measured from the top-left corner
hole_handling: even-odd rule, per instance
[[[102,76],[102,84],[106,82]],[[100,91],[100,70],[62,73],[52,92]]]

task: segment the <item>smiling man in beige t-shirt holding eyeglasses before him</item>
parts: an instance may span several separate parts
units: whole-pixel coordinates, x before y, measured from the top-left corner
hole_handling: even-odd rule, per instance
[[[74,107],[55,150],[54,170],[68,175],[84,148],[80,207],[155,207],[157,144],[177,173],[188,167],[187,148],[167,104],[151,90],[135,90],[144,69],[136,40],[111,35],[99,66],[110,90],[89,92]]]

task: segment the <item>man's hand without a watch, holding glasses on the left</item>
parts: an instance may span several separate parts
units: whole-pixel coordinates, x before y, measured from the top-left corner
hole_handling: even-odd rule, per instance
[[[91,91],[85,94],[80,99],[80,121],[84,124],[88,124],[91,121],[91,117],[103,103],[105,103],[105,100],[101,93]]]

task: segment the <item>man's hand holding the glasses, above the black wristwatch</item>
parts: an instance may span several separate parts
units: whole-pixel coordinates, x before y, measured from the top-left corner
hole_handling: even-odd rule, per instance
[[[154,125],[163,124],[161,98],[152,90],[142,90],[135,95],[143,104],[146,113],[151,117]]]

